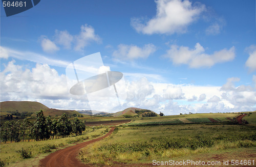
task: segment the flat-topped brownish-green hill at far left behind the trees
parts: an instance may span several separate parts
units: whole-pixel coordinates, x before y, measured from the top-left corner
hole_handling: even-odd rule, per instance
[[[49,109],[44,104],[36,101],[4,101],[0,103],[1,112],[15,112],[18,110],[19,113],[23,112],[38,112],[40,109]]]

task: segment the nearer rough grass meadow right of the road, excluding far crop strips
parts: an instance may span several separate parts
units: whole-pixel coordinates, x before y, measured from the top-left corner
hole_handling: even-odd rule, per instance
[[[256,126],[179,124],[119,126],[104,140],[81,149],[83,162],[98,165],[150,163],[227,149],[256,146]]]

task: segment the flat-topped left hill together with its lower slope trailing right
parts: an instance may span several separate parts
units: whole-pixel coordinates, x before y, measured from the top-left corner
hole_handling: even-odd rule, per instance
[[[36,113],[39,112],[40,109],[43,110],[45,116],[61,116],[63,113],[66,113],[69,116],[72,116],[74,114],[82,115],[76,110],[60,110],[55,108],[49,108],[44,104],[36,101],[3,101],[0,103],[1,112],[16,112],[17,110],[19,113]]]

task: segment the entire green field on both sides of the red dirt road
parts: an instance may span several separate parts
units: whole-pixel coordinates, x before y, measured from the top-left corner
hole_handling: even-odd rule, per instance
[[[109,137],[80,149],[79,159],[83,163],[95,166],[154,166],[153,160],[159,163],[186,159],[223,163],[223,160],[235,159],[254,160],[255,166],[256,113],[246,114],[243,118],[246,124],[231,121],[240,115],[238,113],[147,118],[89,116],[80,118],[87,124],[87,130],[80,136],[1,144],[1,161],[6,166],[38,166],[40,159],[56,150],[102,136],[110,130],[112,123],[116,129]],[[26,155],[29,152],[31,158],[22,157],[22,153]]]

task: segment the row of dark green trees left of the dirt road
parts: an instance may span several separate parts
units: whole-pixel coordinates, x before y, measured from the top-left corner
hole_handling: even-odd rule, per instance
[[[51,119],[50,116],[45,118],[44,112],[40,110],[36,113],[36,120],[34,123],[28,118],[23,122],[7,121],[1,124],[1,140],[2,142],[20,142],[25,141],[25,138],[30,141],[50,140],[58,137],[67,137],[72,134],[80,135],[82,131],[86,130],[86,125],[77,117],[73,121],[68,118],[67,114],[62,114],[61,117]]]

